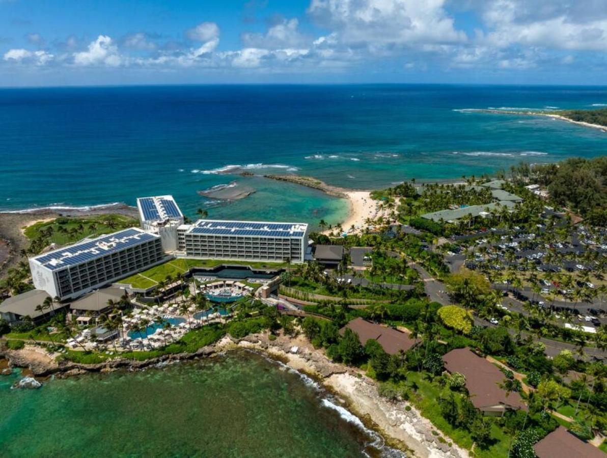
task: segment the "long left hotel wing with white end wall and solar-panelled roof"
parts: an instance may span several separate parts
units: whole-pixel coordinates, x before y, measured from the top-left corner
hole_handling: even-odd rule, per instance
[[[32,257],[30,271],[37,289],[63,300],[136,274],[165,258],[160,235],[131,227]]]

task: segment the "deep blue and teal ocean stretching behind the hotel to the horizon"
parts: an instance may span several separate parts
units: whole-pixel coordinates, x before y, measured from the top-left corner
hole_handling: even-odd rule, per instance
[[[598,129],[466,109],[600,106],[607,87],[2,89],[0,209],[133,205],[172,194],[191,217],[209,207],[212,217],[337,222],[347,212],[339,199],[217,172],[295,172],[370,189],[594,157],[607,152]],[[234,180],[257,192],[229,204],[197,194]]]

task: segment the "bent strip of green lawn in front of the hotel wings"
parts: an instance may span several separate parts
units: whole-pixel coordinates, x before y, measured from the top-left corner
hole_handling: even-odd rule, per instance
[[[250,266],[252,269],[280,269],[287,266],[287,263],[256,263],[248,261],[216,260],[216,259],[185,259],[176,258],[167,261],[164,264],[154,266],[147,271],[123,278],[118,283],[131,284],[133,288],[148,289],[158,282],[163,281],[168,275],[172,278],[179,274],[188,272],[193,267],[215,267],[221,264],[233,264],[238,266]]]

